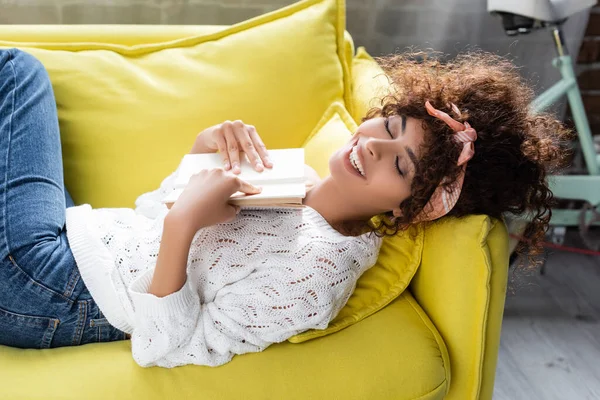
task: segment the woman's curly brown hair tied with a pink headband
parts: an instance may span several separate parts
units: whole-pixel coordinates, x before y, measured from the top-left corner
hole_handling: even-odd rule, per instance
[[[463,189],[448,214],[462,217],[504,213],[526,214],[531,223],[520,252],[536,254],[548,228],[553,202],[547,175],[563,167],[572,132],[550,114],[533,114],[534,92],[509,60],[483,51],[470,51],[445,60],[439,53],[409,52],[377,58],[390,81],[389,93],[363,120],[405,115],[422,121],[426,132],[416,166],[411,196],[400,204],[403,216],[391,213],[370,223],[376,234],[406,229],[423,210],[443,178],[451,184],[461,146],[453,131],[430,116],[425,102],[477,130],[475,155],[467,163]],[[448,107],[454,103],[457,116]]]

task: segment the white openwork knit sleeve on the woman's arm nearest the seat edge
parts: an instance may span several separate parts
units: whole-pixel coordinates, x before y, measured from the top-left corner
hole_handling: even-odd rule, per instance
[[[177,293],[150,295],[151,274],[146,274],[130,289],[136,314],[133,357],[143,367],[218,366],[308,329],[325,329],[362,272],[375,263],[376,249],[367,250],[370,254],[315,255],[298,265],[257,269],[206,304],[189,277]]]

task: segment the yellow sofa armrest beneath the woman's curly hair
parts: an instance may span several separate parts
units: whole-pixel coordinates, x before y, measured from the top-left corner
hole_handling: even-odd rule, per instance
[[[443,218],[426,229],[410,289],[448,347],[447,399],[492,398],[508,259],[502,221]]]

